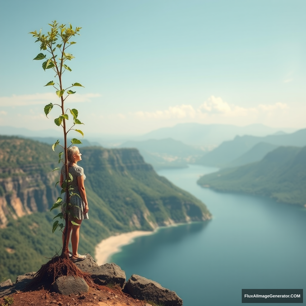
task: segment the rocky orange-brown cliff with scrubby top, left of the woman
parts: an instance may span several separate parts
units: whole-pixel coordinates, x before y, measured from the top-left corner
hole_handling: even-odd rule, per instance
[[[0,136],[0,228],[8,218],[47,211],[57,198],[58,174],[50,147],[17,137]]]

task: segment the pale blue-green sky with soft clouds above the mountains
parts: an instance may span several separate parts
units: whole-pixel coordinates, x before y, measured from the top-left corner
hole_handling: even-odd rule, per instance
[[[178,123],[306,127],[305,0],[4,1],[0,129],[58,129],[43,108],[54,71],[29,32],[82,27],[64,86],[85,133],[141,135]],[[45,52],[44,54],[47,54]],[[74,89],[75,90],[75,89]]]

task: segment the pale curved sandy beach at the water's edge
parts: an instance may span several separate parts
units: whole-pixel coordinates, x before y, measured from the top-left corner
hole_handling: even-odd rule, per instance
[[[98,265],[107,263],[110,256],[120,251],[123,245],[132,243],[133,239],[139,236],[151,235],[154,232],[134,231],[122,233],[103,239],[95,248],[95,259]]]

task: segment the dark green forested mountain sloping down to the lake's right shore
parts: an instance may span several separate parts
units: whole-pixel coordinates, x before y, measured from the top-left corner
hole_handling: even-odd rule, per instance
[[[223,192],[250,193],[305,205],[305,160],[306,147],[278,147],[259,162],[205,175],[198,184]]]

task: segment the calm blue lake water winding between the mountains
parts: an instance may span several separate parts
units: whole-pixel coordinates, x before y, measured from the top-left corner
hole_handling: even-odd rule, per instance
[[[196,185],[215,170],[159,171],[202,200],[213,219],[138,237],[111,261],[127,278],[139,274],[174,290],[184,306],[236,306],[241,289],[305,289],[306,209]]]

